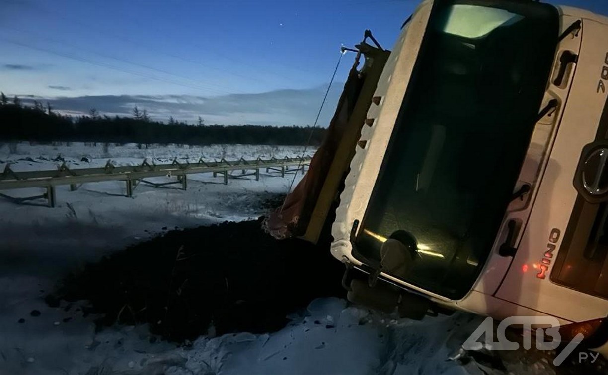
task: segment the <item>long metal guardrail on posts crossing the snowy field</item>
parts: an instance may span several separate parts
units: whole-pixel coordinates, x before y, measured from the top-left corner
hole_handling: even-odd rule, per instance
[[[199,159],[197,163],[179,163],[174,160],[171,164],[150,164],[146,160],[139,166],[114,166],[111,160],[108,160],[104,167],[96,168],[69,168],[65,162],[57,169],[49,169],[45,171],[23,171],[16,172],[10,167],[10,163],[4,168],[4,172],[0,174],[0,190],[24,189],[26,187],[43,187],[46,188],[46,193],[36,195],[34,197],[16,198],[10,195],[1,194],[0,197],[9,198],[10,200],[21,203],[22,201],[33,200],[38,198],[46,198],[50,207],[55,206],[55,186],[70,185],[71,191],[77,190],[79,185],[89,182],[101,181],[125,181],[126,182],[126,197],[132,197],[135,187],[139,183],[145,183],[154,187],[160,187],[168,184],[181,184],[182,189],[187,189],[188,174],[213,173],[213,177],[218,174],[223,175],[224,184],[228,183],[229,172],[241,170],[243,173],[234,178],[255,176],[256,180],[260,179],[260,169],[266,168],[268,171],[281,172],[282,177],[286,173],[297,172],[302,170],[304,174],[305,166],[308,166],[311,158],[283,158],[283,159],[261,159],[246,160],[241,158],[236,161],[204,161]],[[295,169],[289,169],[291,166],[297,166]],[[247,173],[247,171],[254,171]],[[150,177],[177,177],[177,181],[168,181],[165,183],[155,183],[144,180]]]

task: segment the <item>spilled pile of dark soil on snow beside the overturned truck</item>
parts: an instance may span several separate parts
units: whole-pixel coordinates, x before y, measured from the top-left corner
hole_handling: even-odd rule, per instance
[[[89,300],[100,325],[149,323],[182,341],[277,331],[316,297],[344,297],[344,266],[320,245],[275,240],[261,219],[171,231],[70,275],[57,297]]]

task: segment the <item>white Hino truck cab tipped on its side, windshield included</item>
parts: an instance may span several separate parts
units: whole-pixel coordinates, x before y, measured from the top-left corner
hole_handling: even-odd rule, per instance
[[[437,305],[554,316],[603,345],[606,35],[575,8],[424,1],[368,110],[334,257]]]

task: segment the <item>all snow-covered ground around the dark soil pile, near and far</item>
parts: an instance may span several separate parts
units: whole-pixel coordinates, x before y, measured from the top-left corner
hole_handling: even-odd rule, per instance
[[[299,155],[302,147],[20,143],[0,147],[0,167],[52,169],[61,159],[70,167],[86,167],[103,166],[108,159],[134,165],[144,158],[166,163]],[[483,374],[478,361],[448,359],[482,321],[468,314],[412,322],[345,300],[318,299],[277,333],[210,334],[178,346],[151,336],[145,325],[96,331],[84,302],[50,307],[44,301],[66,272],[126,245],[176,227],[266,214],[270,207],[263,201],[285,194],[293,176],[263,173],[260,181],[231,179],[225,186],[221,177],[190,175],[187,191],[140,185],[133,198],[124,196],[124,183],[118,181],[85,184],[74,192],[61,186],[56,208],[44,201],[0,200],[0,374]],[[301,175],[295,177],[297,182]],[[40,194],[30,190],[3,193]],[[545,362],[525,360],[505,371],[485,370],[551,373]]]

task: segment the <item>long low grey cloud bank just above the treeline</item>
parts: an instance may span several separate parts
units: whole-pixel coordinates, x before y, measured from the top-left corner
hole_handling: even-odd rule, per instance
[[[56,86],[51,88],[56,88]],[[201,116],[208,124],[312,126],[326,88],[326,86],[321,86],[302,90],[282,89],[263,93],[213,97],[96,95],[60,96],[38,98],[38,100],[49,101],[56,110],[70,113],[88,113],[91,108],[95,108],[107,115],[131,115],[133,107],[137,106],[140,110],[146,109],[152,118],[164,121],[167,121],[169,116],[173,116],[178,120],[192,122]],[[325,127],[329,124],[341,91],[341,84],[336,83],[332,86],[319,120],[319,126]],[[27,103],[27,99],[24,98],[24,101]]]

